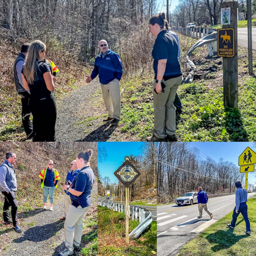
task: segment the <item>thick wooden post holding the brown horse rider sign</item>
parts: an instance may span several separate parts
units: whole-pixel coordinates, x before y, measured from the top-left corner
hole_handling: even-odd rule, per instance
[[[232,0],[222,2],[221,8],[230,8],[230,24],[222,25],[222,28],[234,29],[234,57],[223,57],[223,94],[224,107],[237,108],[237,8],[238,3]],[[224,23],[225,24],[225,23]]]

